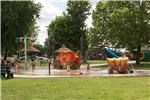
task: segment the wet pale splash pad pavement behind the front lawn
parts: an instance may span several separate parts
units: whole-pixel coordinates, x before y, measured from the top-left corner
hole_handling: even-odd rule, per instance
[[[107,64],[92,64],[90,66],[100,66]],[[79,73],[83,72],[82,75]],[[109,74],[107,68],[91,68],[90,74],[86,74],[86,66],[81,66],[78,70],[71,70],[67,72],[66,70],[56,70],[52,69],[50,71],[47,67],[37,68],[35,72],[31,69],[19,70],[14,74],[14,78],[57,78],[57,77],[139,77],[139,76],[150,76],[150,70],[135,70],[134,73],[130,74]]]

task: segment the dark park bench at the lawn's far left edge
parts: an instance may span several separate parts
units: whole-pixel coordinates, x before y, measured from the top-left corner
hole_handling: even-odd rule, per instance
[[[13,78],[14,72],[11,72],[8,66],[0,66],[0,77],[5,77],[5,74],[7,74],[6,78],[9,79],[9,77]]]

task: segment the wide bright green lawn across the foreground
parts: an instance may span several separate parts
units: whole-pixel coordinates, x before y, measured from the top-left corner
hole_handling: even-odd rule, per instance
[[[1,100],[149,100],[149,77],[0,78]]]

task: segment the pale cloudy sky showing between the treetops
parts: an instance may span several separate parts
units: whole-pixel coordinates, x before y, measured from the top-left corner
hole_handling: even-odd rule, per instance
[[[41,13],[40,13],[40,19],[37,19],[37,24],[40,26],[40,31],[38,34],[38,40],[36,42],[39,42],[40,44],[44,45],[45,39],[48,37],[47,35],[47,28],[45,26],[48,26],[52,20],[55,19],[56,16],[62,15],[63,11],[66,11],[67,8],[67,0],[34,0],[35,3],[40,2],[42,4]],[[99,0],[91,0],[92,9],[95,8],[96,3]],[[92,12],[91,9],[91,12]],[[86,20],[87,26],[92,26],[92,17],[89,16],[89,18]]]

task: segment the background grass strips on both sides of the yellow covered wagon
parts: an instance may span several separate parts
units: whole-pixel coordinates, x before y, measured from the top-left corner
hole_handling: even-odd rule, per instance
[[[150,64],[148,63],[142,63],[140,65],[132,64],[134,69],[143,69],[143,70],[150,70]],[[131,64],[129,67],[132,69]],[[108,68],[108,65],[102,65],[102,66],[93,66],[92,68]]]

